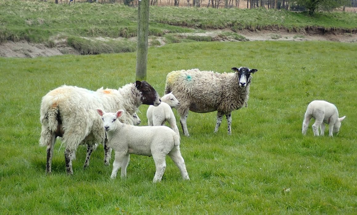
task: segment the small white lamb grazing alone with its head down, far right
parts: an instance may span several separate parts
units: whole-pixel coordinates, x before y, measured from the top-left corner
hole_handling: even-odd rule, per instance
[[[341,121],[344,120],[346,116],[338,118],[338,111],[334,104],[321,100],[312,101],[307,105],[304,121],[302,122],[303,135],[306,135],[311,118],[315,119],[315,123],[312,125],[314,136],[318,136],[319,126],[321,130],[320,135],[324,135],[326,123],[328,124],[329,136],[332,137],[333,132],[338,132],[340,130]]]

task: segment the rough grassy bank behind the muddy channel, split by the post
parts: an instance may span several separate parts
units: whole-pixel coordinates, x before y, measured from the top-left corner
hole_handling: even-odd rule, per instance
[[[283,28],[356,31],[354,13],[302,13],[265,9],[212,9],[195,7],[150,7],[149,36],[166,43],[214,41],[212,38],[181,40],[178,33],[226,29],[239,38],[243,29]],[[53,1],[0,0],[0,42],[27,40],[51,47],[60,38],[81,53],[135,51],[128,40],[137,34],[137,8],[121,4],[55,4]],[[91,38],[104,37],[93,41]],[[121,40],[112,40],[121,37]],[[242,41],[245,39],[243,38]],[[99,47],[99,48],[96,48]]]

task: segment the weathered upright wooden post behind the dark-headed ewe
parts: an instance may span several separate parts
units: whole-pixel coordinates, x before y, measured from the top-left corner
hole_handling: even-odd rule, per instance
[[[146,80],[149,0],[139,0],[136,46],[136,80]]]

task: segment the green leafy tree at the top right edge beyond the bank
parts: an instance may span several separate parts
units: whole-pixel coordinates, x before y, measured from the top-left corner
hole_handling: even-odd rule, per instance
[[[296,4],[304,6],[308,15],[313,15],[317,10],[331,11],[343,5],[350,5],[351,0],[297,0]]]

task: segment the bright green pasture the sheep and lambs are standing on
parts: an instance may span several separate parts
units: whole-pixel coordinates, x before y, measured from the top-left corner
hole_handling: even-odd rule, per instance
[[[248,108],[232,114],[232,135],[225,120],[213,133],[216,112],[190,112],[181,153],[191,180],[167,158],[157,184],[152,158],[135,155],[128,177],[110,180],[113,159],[104,166],[102,146],[86,170],[80,146],[68,176],[60,141],[46,175],[46,148],[38,145],[42,96],[63,84],[96,90],[134,82],[136,53],[0,58],[0,214],[356,214],[356,50],[322,41],[149,48],[147,81],[160,95],[172,70],[258,69]],[[317,99],[347,116],[333,138],[313,137],[311,125],[301,134],[306,106]],[[140,106],[141,125],[147,107]]]

